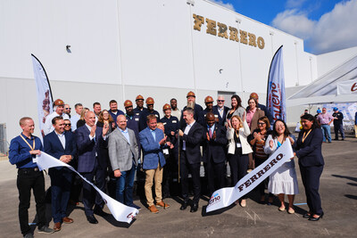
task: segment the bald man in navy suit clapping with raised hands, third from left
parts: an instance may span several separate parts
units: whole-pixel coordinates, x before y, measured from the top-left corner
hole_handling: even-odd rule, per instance
[[[95,113],[87,111],[85,115],[86,124],[76,130],[76,143],[79,156],[78,171],[82,176],[86,177],[89,182],[96,182],[96,186],[104,191],[105,189],[105,174],[107,161],[98,156],[99,148],[106,147],[106,135],[108,133],[108,125],[102,128],[95,126]],[[103,215],[104,201],[100,194],[96,193],[92,185],[83,183],[83,204],[85,213],[89,223],[97,224],[95,213]],[[93,206],[95,204],[95,210]]]

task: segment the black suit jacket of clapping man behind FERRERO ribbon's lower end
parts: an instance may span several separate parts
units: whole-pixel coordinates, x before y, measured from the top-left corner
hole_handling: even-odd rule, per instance
[[[207,140],[208,128],[206,127],[203,133],[203,162],[207,163],[212,160],[215,163],[221,163],[226,160],[227,155],[227,144],[228,140],[226,138],[226,128],[220,126],[218,123],[214,125],[214,132],[216,133],[215,140]],[[209,134],[210,135],[210,134]],[[213,135],[213,134],[212,134]]]

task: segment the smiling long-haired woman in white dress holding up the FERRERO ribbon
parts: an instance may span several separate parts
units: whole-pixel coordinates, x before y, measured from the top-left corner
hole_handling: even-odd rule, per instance
[[[284,144],[286,138],[289,139],[291,144],[295,143],[295,139],[293,138],[294,135],[290,134],[286,127],[286,123],[283,120],[277,119],[273,128],[273,132],[268,136],[264,146],[264,152],[267,154],[275,152],[278,147]],[[295,213],[294,198],[295,194],[299,193],[299,189],[297,185],[294,160],[284,163],[270,175],[268,190],[270,193],[278,194],[278,199],[280,201],[280,207],[278,208],[279,211],[286,209],[284,201],[286,194],[289,201],[287,212],[289,214]]]

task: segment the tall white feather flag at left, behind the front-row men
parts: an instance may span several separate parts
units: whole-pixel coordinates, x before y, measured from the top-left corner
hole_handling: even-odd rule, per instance
[[[41,62],[38,61],[35,55],[31,54],[34,76],[37,86],[37,113],[39,120],[39,129],[42,138],[45,136],[44,127],[46,116],[54,111],[52,107],[52,93],[48,82],[45,69],[42,67]]]

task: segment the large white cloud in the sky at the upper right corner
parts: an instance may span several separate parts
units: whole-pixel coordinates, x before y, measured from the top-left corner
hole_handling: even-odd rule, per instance
[[[280,12],[272,26],[305,40],[312,53],[327,53],[357,45],[357,0],[336,4],[331,12],[311,21],[298,10]]]

